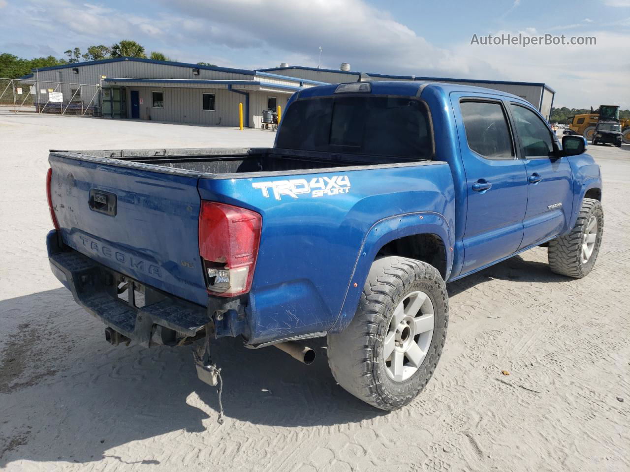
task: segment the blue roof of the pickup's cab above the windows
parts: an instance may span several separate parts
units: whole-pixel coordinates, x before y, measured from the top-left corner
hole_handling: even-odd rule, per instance
[[[355,84],[357,82],[346,82]],[[371,93],[375,95],[398,95],[398,96],[416,96],[418,91],[425,87],[438,87],[442,89],[444,94],[451,92],[473,92],[473,93],[486,93],[493,95],[500,95],[509,98],[515,98],[521,100],[520,97],[511,93],[503,92],[496,89],[489,89],[486,87],[475,87],[470,85],[452,84],[449,82],[437,82],[437,81],[370,81],[359,82],[369,83],[371,86]],[[309,87],[302,89],[299,92],[299,98],[329,96],[335,93],[339,84],[323,85],[316,87]]]

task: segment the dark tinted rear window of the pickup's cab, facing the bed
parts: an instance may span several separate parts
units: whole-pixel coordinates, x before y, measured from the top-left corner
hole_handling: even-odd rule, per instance
[[[412,97],[340,96],[302,99],[282,118],[283,149],[432,159],[425,103]]]

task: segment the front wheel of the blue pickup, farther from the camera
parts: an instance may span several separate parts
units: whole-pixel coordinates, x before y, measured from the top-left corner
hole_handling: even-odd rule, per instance
[[[582,201],[575,227],[568,235],[549,241],[547,258],[556,274],[581,279],[592,271],[604,233],[604,210],[593,198]]]

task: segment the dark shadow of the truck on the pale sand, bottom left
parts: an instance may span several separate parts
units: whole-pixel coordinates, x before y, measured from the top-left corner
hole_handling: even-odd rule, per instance
[[[261,434],[275,437],[275,427],[356,423],[386,414],[336,385],[323,339],[309,342],[318,354],[311,366],[275,347],[246,349],[232,338],[214,342],[224,381],[226,420],[219,425],[217,389],[197,379],[190,346],[112,347],[103,325],[64,288],[0,301],[0,317],[20,319],[0,349],[0,468],[21,459],[111,459],[121,456],[113,447],[164,434],[185,441],[185,432],[203,433],[218,444],[226,430],[251,429],[246,423],[269,426]],[[163,451],[159,442],[149,444],[153,454],[142,447],[141,457],[118,460],[156,464]]]

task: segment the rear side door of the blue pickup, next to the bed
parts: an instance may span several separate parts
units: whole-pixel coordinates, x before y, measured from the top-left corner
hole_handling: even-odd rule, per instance
[[[517,158],[505,103],[482,94],[452,94],[451,100],[466,174],[463,275],[520,247],[527,174]]]

